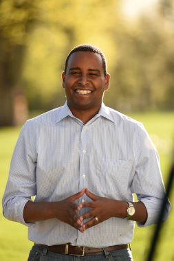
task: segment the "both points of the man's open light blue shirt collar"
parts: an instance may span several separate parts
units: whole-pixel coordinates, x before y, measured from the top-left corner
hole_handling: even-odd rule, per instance
[[[67,102],[61,107],[61,111],[58,113],[58,117],[56,122],[61,122],[61,120],[65,119],[65,117],[74,117],[72,112],[70,111],[69,107],[67,106]],[[96,115],[98,117],[102,116],[105,117],[107,120],[113,121],[113,117],[111,115],[111,112],[107,106],[102,102],[102,105],[100,107],[100,110],[98,111],[98,114]]]

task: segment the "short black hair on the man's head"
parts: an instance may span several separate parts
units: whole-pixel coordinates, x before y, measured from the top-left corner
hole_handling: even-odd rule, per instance
[[[69,57],[74,54],[75,52],[91,52],[91,53],[96,53],[99,54],[102,58],[102,67],[103,67],[103,71],[104,71],[104,75],[107,75],[107,59],[105,58],[105,54],[103,54],[102,50],[100,48],[98,48],[95,45],[78,45],[76,47],[74,47],[69,54],[67,55],[67,58],[65,60],[65,73],[67,71],[67,63],[69,60]]]

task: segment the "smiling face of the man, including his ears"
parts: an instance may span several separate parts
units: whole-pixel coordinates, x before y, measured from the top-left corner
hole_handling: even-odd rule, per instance
[[[102,58],[92,52],[75,52],[62,73],[67,104],[72,111],[98,111],[102,96],[109,88],[109,74],[104,76]]]

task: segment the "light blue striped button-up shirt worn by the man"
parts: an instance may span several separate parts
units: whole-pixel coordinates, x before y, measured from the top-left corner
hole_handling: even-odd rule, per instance
[[[135,193],[148,212],[144,226],[155,223],[164,184],[157,151],[142,124],[105,104],[87,124],[66,103],[28,120],[12,156],[4,216],[28,225],[29,239],[40,244],[107,247],[131,242],[134,223],[122,218],[109,218],[84,233],[56,218],[33,224],[23,220],[31,196],[36,202],[61,201],[83,188],[122,201],[133,201]],[[164,219],[169,209],[168,203]]]

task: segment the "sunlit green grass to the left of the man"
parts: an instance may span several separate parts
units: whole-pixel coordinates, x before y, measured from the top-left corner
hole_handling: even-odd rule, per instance
[[[0,198],[6,187],[12,150],[19,135],[19,128],[0,128]],[[0,260],[24,261],[32,242],[28,241],[27,228],[3,218],[0,209]]]

